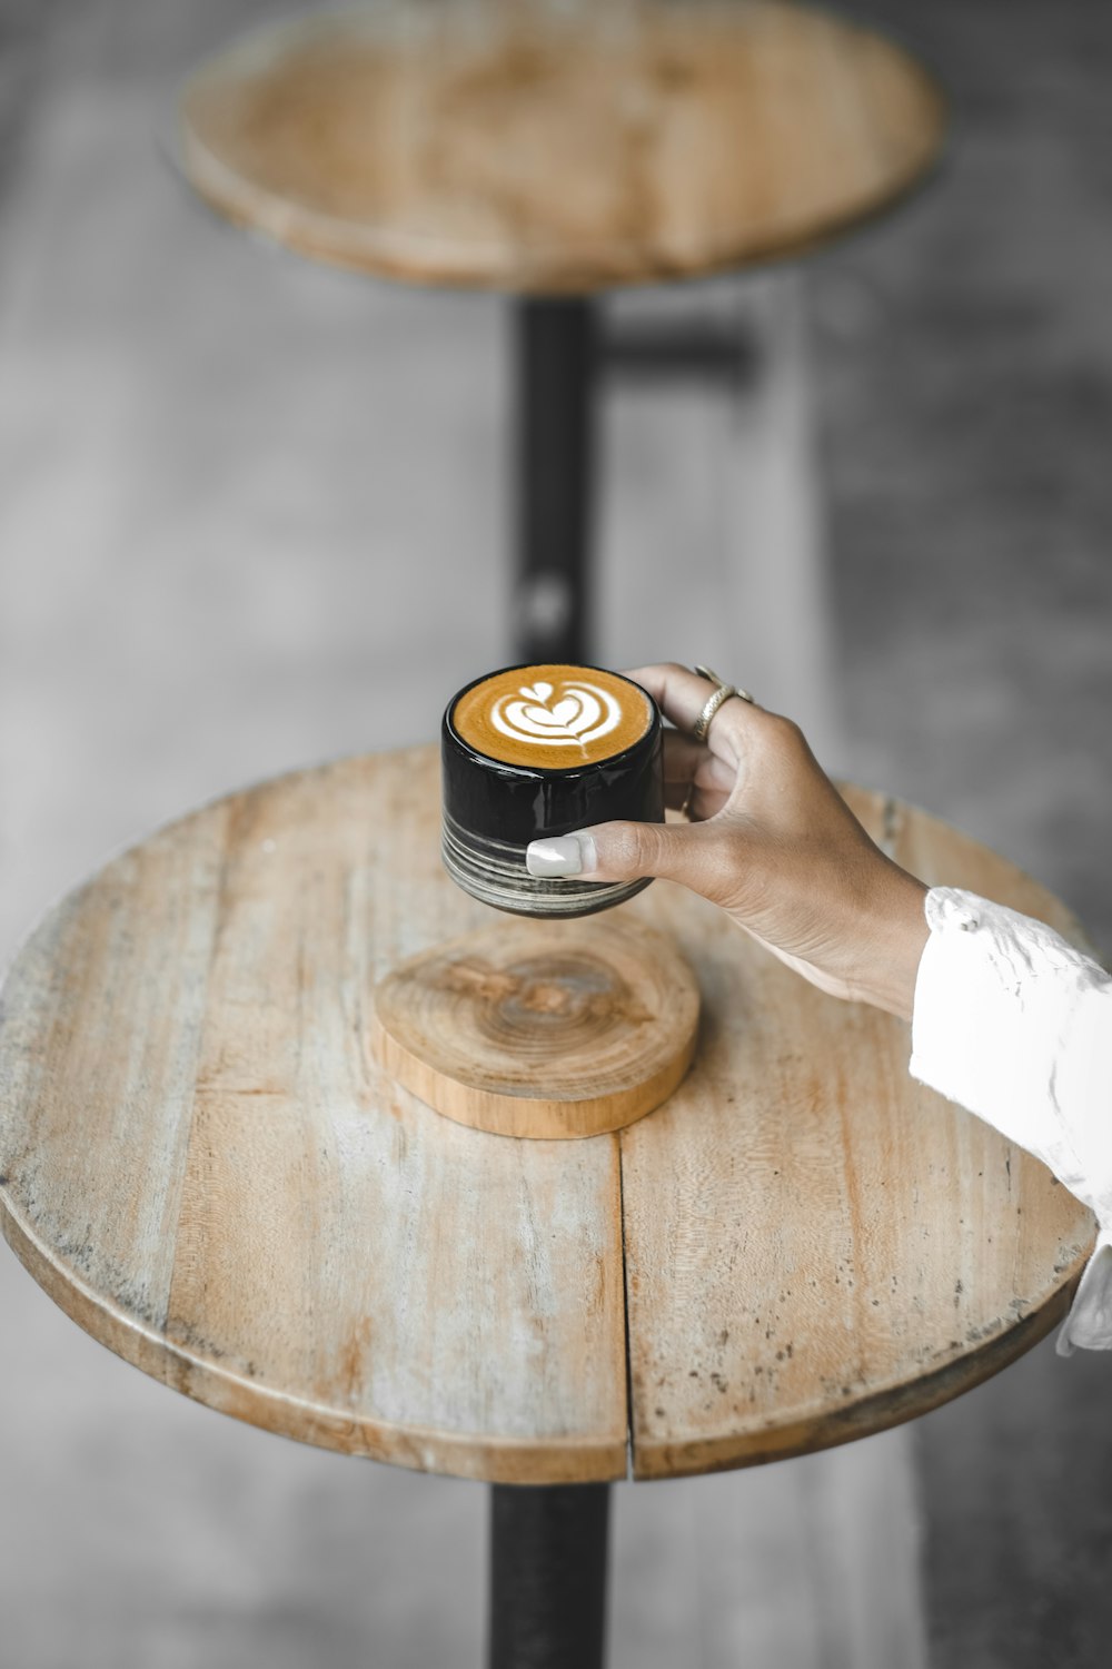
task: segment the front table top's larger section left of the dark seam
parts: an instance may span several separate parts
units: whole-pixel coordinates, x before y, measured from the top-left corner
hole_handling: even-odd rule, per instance
[[[437,759],[222,801],[20,956],[5,1232],[178,1390],[325,1447],[513,1480],[625,1472],[615,1138],[448,1123],[370,1055],[393,963],[488,920],[440,871]]]

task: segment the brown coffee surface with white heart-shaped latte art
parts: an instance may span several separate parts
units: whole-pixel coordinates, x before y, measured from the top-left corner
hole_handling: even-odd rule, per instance
[[[452,708],[457,734],[503,764],[567,771],[634,748],[654,723],[644,689],[582,666],[517,666],[472,684]]]

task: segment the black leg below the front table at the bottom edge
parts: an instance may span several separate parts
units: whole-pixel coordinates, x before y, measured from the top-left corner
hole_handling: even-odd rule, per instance
[[[490,1669],[602,1669],[609,1484],[493,1484]]]

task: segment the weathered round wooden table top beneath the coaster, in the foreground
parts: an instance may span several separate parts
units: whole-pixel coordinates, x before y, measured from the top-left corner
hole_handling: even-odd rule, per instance
[[[1065,931],[1010,865],[850,791],[925,880]],[[203,808],[33,931],[0,1028],[0,1218],[95,1339],[290,1437],[463,1477],[674,1477],[874,1432],[1064,1314],[1094,1238],[907,1077],[907,1026],[657,881],[695,1065],[617,1135],[527,1142],[377,1066],[373,986],[497,920],[438,860],[433,749]],[[552,926],[542,923],[543,931]]]

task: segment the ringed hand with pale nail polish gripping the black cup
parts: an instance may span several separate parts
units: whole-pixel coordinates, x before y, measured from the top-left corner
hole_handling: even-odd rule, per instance
[[[665,799],[694,821],[600,823],[533,841],[530,871],[680,881],[820,990],[910,1018],[927,890],[869,840],[799,726],[730,698],[700,743],[690,731],[712,684],[682,666],[629,676],[675,726]]]

